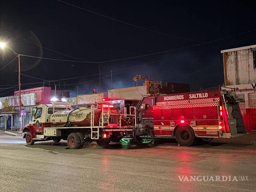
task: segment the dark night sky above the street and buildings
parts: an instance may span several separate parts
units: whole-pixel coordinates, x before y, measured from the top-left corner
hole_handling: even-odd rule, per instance
[[[96,62],[21,56],[21,73],[39,78],[22,75],[21,84],[26,84],[22,89],[40,86],[42,83],[29,84],[42,82],[40,79],[58,80],[98,74],[100,67],[103,73],[101,84],[99,75],[63,80],[61,84],[65,82],[66,90],[76,90],[78,86],[79,94],[92,93],[93,86],[99,92],[107,91],[111,89],[111,76],[106,72],[112,70],[113,88],[132,87],[135,83],[132,76],[142,74],[163,84],[167,81],[188,83],[191,91],[194,91],[223,84],[221,50],[256,44],[256,31],[244,33],[256,28],[253,1],[63,1],[160,33],[127,25],[57,0],[1,1],[1,29],[65,55]],[[17,53],[81,61],[41,48],[9,33],[0,30],[0,41],[6,42]],[[233,36],[238,33],[243,34]],[[228,36],[233,37],[225,38]],[[221,38],[225,39],[179,49]],[[177,50],[136,57],[172,49]],[[0,69],[14,57],[9,49],[1,49]],[[136,58],[119,60],[129,57]],[[119,61],[97,63],[109,60]],[[119,70],[124,68],[129,69]],[[0,88],[18,84],[17,69],[16,58],[0,71],[0,85],[7,85]],[[85,81],[90,82],[67,86]],[[54,89],[54,82],[50,84]],[[15,87],[0,89],[0,97],[13,95],[13,89]],[[60,89],[64,90],[64,86]]]

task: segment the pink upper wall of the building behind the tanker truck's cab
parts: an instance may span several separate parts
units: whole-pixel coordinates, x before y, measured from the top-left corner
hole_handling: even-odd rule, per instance
[[[51,87],[36,87],[33,89],[24,89],[20,94],[36,93],[36,105],[50,104]],[[19,95],[19,91],[15,91],[14,95]]]

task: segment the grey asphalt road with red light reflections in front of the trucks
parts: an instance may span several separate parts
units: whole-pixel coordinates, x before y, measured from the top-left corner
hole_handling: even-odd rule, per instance
[[[160,139],[151,146],[124,140],[65,148],[63,140],[28,146],[21,137],[0,135],[0,191],[256,191],[253,143],[182,147]],[[199,177],[186,181],[182,176]],[[200,181],[202,176],[238,181]]]

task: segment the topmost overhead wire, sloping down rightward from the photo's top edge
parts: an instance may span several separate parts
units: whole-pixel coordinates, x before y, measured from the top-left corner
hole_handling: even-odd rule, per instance
[[[57,0],[57,1],[60,1],[60,0]],[[118,22],[121,22],[121,23],[124,23],[124,24],[127,24],[127,25],[131,25],[131,26],[133,26],[133,27],[137,27],[137,28],[140,28],[140,29],[144,29],[144,30],[147,30],[147,31],[154,32],[154,33],[159,33],[159,34],[162,34],[162,35],[167,35],[167,36],[175,37],[175,38],[178,38],[178,39],[183,39],[183,40],[188,40],[188,41],[194,41],[194,42],[200,42],[200,41],[195,41],[195,40],[192,40],[192,39],[186,39],[186,38],[183,38],[183,37],[178,37],[178,36],[175,36],[175,35],[170,35],[170,34],[167,34],[167,33],[162,33],[162,32],[159,32],[159,31],[154,31],[154,30],[151,30],[151,29],[147,29],[147,28],[144,28],[144,27],[140,27],[140,26],[138,26],[138,25],[133,25],[133,24],[131,24],[131,23],[127,23],[127,22],[124,22],[124,21],[121,21],[121,20],[118,20],[118,19],[114,19],[114,18],[112,18],[112,17],[108,17],[108,16],[106,16],[106,15],[102,15],[102,14],[100,14],[100,13],[96,13],[96,12],[90,11],[90,10],[88,10],[88,9],[84,9],[84,8],[82,8],[82,7],[78,7],[78,6],[76,6],[76,5],[72,5],[72,4],[66,3],[66,2],[64,2],[64,1],[60,1],[60,2],[65,3],[65,4],[67,4],[67,5],[70,5],[70,6],[73,6],[73,7],[76,7],[76,8],[79,8],[79,9],[83,9],[83,10],[85,10],[85,11],[88,11],[88,12],[91,12],[91,13],[94,13],[94,14],[97,14],[97,15],[100,15],[100,16],[103,16],[103,17],[106,17],[106,18],[108,18],[108,19],[112,19],[112,20],[115,20],[115,21],[118,21]]]

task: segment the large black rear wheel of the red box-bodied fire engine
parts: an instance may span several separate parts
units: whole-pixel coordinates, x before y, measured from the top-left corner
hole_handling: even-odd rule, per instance
[[[193,145],[197,140],[193,130],[187,126],[178,127],[175,137],[177,142],[183,146]]]

